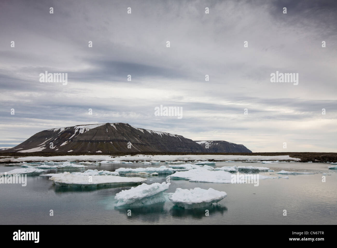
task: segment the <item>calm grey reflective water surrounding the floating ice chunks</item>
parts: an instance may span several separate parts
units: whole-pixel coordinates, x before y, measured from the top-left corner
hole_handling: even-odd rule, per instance
[[[161,165],[161,164],[160,164]],[[160,165],[151,165],[159,167]],[[165,165],[165,164],[162,164]],[[48,177],[29,176],[27,186],[0,184],[0,224],[336,224],[337,171],[327,163],[233,163],[222,166],[265,166],[275,171],[318,172],[289,175],[289,179],[259,180],[253,184],[196,183],[171,180],[166,193],[176,188],[213,188],[225,191],[227,197],[217,205],[196,210],[184,210],[167,199],[140,208],[115,208],[116,193],[130,187],[68,189],[52,185]],[[119,167],[149,167],[141,163],[90,165],[87,169],[114,171]],[[0,164],[0,172],[17,166]],[[48,170],[55,173],[56,169]],[[322,174],[327,173],[326,182]],[[277,176],[273,172],[263,175]],[[287,176],[287,175],[281,175]],[[147,183],[165,182],[165,176],[148,177]],[[127,210],[131,216],[127,216]],[[209,216],[205,215],[209,210]],[[54,216],[50,216],[50,210]],[[283,216],[283,210],[287,216]]]

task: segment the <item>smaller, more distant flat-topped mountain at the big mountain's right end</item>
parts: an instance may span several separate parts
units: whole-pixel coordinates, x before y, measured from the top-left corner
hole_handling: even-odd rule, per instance
[[[209,153],[251,153],[244,145],[239,145],[224,140],[194,140]],[[208,148],[206,148],[208,147]]]

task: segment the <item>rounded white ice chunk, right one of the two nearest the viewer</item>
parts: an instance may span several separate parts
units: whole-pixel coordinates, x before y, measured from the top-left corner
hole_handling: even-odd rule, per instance
[[[190,190],[177,188],[176,192],[168,193],[168,199],[170,199],[173,204],[184,209],[195,209],[210,206],[213,202],[219,202],[226,196],[226,192],[218,191],[212,188],[209,188],[208,190],[201,188],[194,188]]]

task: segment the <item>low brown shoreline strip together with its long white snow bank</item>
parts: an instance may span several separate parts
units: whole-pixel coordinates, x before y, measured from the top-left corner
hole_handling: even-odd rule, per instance
[[[0,163],[43,162],[43,161],[298,161],[337,162],[337,153],[0,153]]]

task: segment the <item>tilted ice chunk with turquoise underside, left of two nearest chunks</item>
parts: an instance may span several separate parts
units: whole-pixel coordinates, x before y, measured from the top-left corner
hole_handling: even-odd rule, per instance
[[[164,202],[165,197],[163,192],[168,189],[170,183],[154,183],[142,184],[137,187],[132,187],[129,190],[122,190],[117,193],[115,199],[118,200],[116,206],[143,206],[157,202]]]

